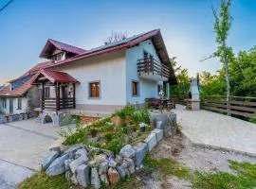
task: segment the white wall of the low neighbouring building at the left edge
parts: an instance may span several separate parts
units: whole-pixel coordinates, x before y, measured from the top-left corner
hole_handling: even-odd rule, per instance
[[[27,97],[21,97],[22,98],[22,109],[18,110],[18,98],[17,97],[13,97],[12,101],[13,101],[13,114],[18,114],[18,113],[22,113],[22,112],[27,112]],[[3,98],[0,98],[0,110],[1,112],[4,113],[9,113],[9,98],[6,98],[6,102],[7,102],[7,107],[6,109],[4,109],[3,107]]]

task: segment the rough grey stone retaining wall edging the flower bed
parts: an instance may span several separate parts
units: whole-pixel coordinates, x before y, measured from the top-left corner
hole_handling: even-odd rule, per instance
[[[164,136],[169,135],[171,129],[167,128],[171,128],[170,123],[174,123],[175,120],[175,114],[171,114],[173,120],[168,118],[170,113],[165,116],[151,114],[151,120],[157,120],[155,121],[157,124],[154,125],[155,129],[151,131],[144,142],[136,146],[123,146],[119,155],[114,156],[112,151],[100,149],[101,154],[90,160],[89,153],[95,150],[95,147],[83,146],[82,144],[69,147],[59,146],[52,148],[50,156],[42,163],[42,168],[46,170],[48,176],[65,174],[67,180],[83,187],[93,185],[95,188],[101,188],[102,182],[113,185],[143,167],[146,154]],[[165,122],[166,120],[169,121]]]

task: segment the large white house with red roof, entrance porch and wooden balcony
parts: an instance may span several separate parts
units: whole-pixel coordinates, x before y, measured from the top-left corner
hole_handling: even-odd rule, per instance
[[[39,120],[54,125],[66,113],[104,116],[143,105],[176,83],[159,29],[90,50],[48,40],[40,57],[47,61],[25,76],[39,90]]]

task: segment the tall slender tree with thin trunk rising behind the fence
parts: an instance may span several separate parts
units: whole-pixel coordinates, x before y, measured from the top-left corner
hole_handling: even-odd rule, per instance
[[[212,7],[214,16],[214,31],[216,33],[216,43],[218,44],[217,51],[214,53],[215,57],[219,57],[220,61],[225,66],[225,78],[226,78],[226,90],[227,101],[229,102],[230,85],[229,85],[229,57],[232,55],[232,50],[227,46],[227,39],[229,36],[229,29],[231,27],[231,16],[229,8],[231,6],[231,0],[220,0],[220,10],[217,11]],[[229,107],[228,107],[228,114]]]

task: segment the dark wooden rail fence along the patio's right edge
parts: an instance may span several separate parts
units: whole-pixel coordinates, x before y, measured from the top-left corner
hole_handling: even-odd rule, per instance
[[[235,117],[256,118],[256,97],[207,95],[200,96],[201,109],[230,114]]]

